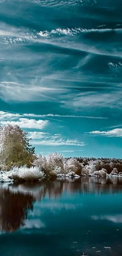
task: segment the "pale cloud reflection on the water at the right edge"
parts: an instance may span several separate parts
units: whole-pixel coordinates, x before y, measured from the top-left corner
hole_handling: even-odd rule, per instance
[[[122,214],[117,215],[101,215],[101,216],[91,216],[91,219],[93,220],[108,220],[112,221],[114,223],[122,223]]]

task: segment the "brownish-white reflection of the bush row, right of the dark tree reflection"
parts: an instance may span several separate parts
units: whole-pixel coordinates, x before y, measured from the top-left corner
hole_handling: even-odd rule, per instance
[[[45,182],[41,185],[40,198],[48,196],[48,198],[61,197],[64,191],[68,193],[120,193],[122,192],[122,178],[98,178],[84,177],[78,179],[66,179],[54,182]]]

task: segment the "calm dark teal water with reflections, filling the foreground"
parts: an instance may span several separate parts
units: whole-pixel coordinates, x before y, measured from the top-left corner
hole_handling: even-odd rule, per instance
[[[121,202],[117,178],[1,185],[1,255],[122,255]]]

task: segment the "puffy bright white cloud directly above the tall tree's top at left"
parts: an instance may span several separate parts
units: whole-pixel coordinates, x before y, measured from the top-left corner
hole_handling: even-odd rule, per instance
[[[43,129],[47,124],[49,124],[48,120],[35,120],[35,119],[27,119],[27,118],[19,118],[18,121],[0,121],[1,125],[18,125],[21,128],[35,128],[35,129]]]

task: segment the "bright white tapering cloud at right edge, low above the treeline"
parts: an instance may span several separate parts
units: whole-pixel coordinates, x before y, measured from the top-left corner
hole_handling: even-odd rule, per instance
[[[111,137],[122,137],[122,128],[117,128],[109,131],[92,131],[92,132],[85,132],[85,133],[90,133],[93,135],[111,136]]]

